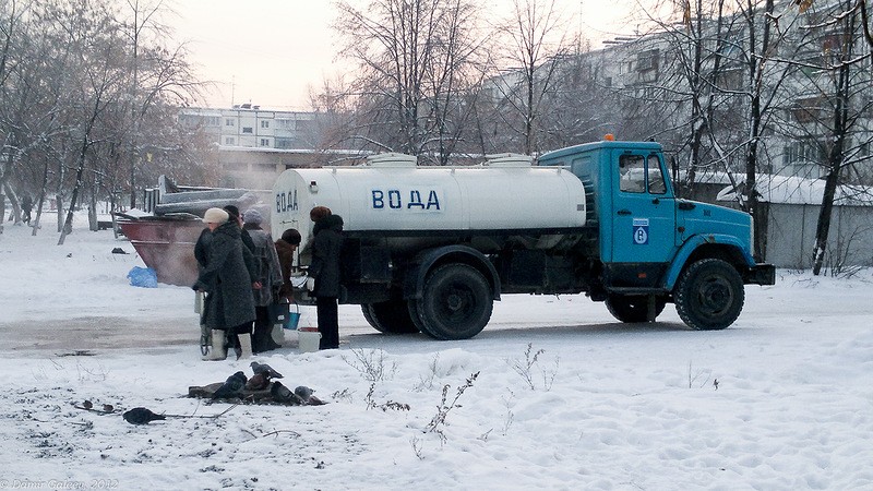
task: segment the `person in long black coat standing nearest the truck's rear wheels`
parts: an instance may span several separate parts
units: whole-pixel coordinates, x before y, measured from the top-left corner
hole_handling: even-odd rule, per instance
[[[315,224],[312,230],[312,263],[309,265],[308,285],[315,297],[315,311],[321,340],[319,349],[339,348],[339,319],[337,300],[340,289],[339,254],[343,249],[343,218],[324,206],[309,213]]]

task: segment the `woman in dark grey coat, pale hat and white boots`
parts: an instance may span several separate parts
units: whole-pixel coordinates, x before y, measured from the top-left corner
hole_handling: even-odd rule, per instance
[[[251,357],[251,326],[255,318],[252,288],[260,287],[260,284],[252,280],[256,272],[247,267],[244,254],[250,253],[242,246],[239,226],[228,221],[227,212],[210,208],[203,221],[212,230],[212,241],[207,248],[206,265],[192,288],[211,297],[205,307],[205,324],[212,330],[213,337],[213,349],[207,359],[226,357],[224,342],[229,334],[239,338],[240,357]]]

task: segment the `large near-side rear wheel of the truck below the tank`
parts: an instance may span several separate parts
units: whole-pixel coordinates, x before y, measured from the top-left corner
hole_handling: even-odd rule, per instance
[[[469,339],[479,334],[494,308],[488,280],[473,266],[446,264],[428,275],[417,300],[422,332],[436,339]]]

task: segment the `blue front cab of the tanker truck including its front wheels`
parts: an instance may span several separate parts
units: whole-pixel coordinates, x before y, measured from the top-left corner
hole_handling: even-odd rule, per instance
[[[586,143],[537,165],[583,181],[599,268],[588,295],[619,320],[650,321],[673,302],[691,327],[725,328],[742,310],[743,285],[775,283],[774,266],[753,258],[752,217],[677,199],[656,142]]]

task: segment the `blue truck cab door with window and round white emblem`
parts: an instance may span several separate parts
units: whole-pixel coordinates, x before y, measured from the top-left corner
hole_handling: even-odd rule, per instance
[[[641,280],[632,283],[644,286],[657,280],[658,272],[675,251],[674,199],[659,153],[614,151],[610,160],[613,166],[611,262],[625,263],[619,267],[633,271],[623,275],[637,277]],[[648,282],[642,280],[646,278]]]

